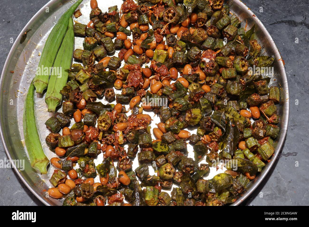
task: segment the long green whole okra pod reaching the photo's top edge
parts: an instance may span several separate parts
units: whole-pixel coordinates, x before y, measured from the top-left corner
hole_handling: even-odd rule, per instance
[[[69,25],[69,20],[76,10],[76,8],[79,6],[79,4],[83,0],[78,0],[76,3],[74,3],[70,9],[68,9],[58,20],[56,25],[53,27],[52,31],[49,33],[49,36],[45,42],[39,66],[38,68],[44,68],[53,66],[53,63],[55,61],[56,55],[58,53],[58,49],[62,43],[62,40],[66,34],[68,25]],[[67,56],[66,56],[67,57]],[[63,69],[65,70],[65,69]],[[47,88],[48,85],[48,79],[49,79],[49,74],[44,75],[45,70],[37,70],[36,77],[33,79],[33,85],[36,88],[36,92],[42,94],[43,90]]]

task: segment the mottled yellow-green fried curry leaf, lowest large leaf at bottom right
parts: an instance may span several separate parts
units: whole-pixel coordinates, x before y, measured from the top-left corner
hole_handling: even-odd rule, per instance
[[[211,193],[217,193],[233,184],[233,177],[227,173],[219,173],[207,182],[206,187]]]

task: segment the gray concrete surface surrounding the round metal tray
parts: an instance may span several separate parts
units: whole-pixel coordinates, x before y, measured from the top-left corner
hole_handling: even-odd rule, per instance
[[[99,0],[100,1],[100,0]],[[2,1],[0,70],[15,38],[48,0]],[[308,205],[308,37],[307,0],[243,0],[264,23],[285,61],[290,89],[290,121],[286,140],[268,176],[243,205]],[[262,8],[260,8],[262,7]],[[261,9],[263,12],[261,12]],[[295,43],[298,38],[298,43]],[[298,105],[295,103],[298,100]],[[6,153],[0,141],[0,159]],[[296,167],[295,163],[298,163]],[[43,205],[13,169],[0,169],[0,205]],[[261,193],[262,192],[262,193]]]

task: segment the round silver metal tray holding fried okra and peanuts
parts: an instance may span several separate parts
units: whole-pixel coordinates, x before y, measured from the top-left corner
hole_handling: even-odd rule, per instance
[[[4,149],[9,159],[25,160],[23,166],[24,170],[18,168],[19,166],[14,166],[14,169],[29,190],[46,205],[61,205],[62,203],[60,200],[46,197],[46,193],[43,191],[44,189],[47,190],[50,186],[48,180],[53,172],[53,168],[51,166],[49,167],[47,175],[40,175],[30,166],[23,142],[23,104],[29,84],[35,76],[39,55],[43,49],[46,38],[55,22],[74,2],[75,1],[51,0],[32,17],[13,44],[4,64],[0,80],[0,128]],[[81,21],[77,19],[81,23],[87,23],[87,15],[89,15],[90,12],[89,2],[90,0],[84,0],[79,6],[83,13],[82,17],[84,17],[85,20]],[[99,2],[99,8],[102,11],[107,11],[108,6],[118,5],[120,7],[121,3],[121,0],[110,0],[108,4]],[[281,90],[281,100],[278,105],[278,113],[281,118],[279,126],[281,130],[274,143],[276,151],[262,172],[249,183],[247,191],[232,204],[239,205],[262,182],[280,152],[288,127],[289,89],[284,65],[280,60],[280,53],[264,25],[241,1],[230,0],[228,4],[230,5],[231,12],[236,13],[239,19],[241,19],[242,26],[245,25],[246,21],[248,23],[248,28],[251,28],[252,25],[256,23],[256,35],[259,38],[259,42],[264,45],[263,54],[275,56],[275,61],[273,63],[274,77],[271,80],[271,84],[280,86]],[[28,32],[27,39],[23,44],[19,44],[21,36],[28,29],[32,30]],[[81,43],[80,41],[76,42],[75,39],[75,48],[78,48],[77,45],[81,45]],[[44,152],[50,159],[51,157],[55,157],[55,154],[46,147],[45,137],[49,132],[46,130],[44,122],[52,115],[47,112],[44,98],[37,96],[35,98],[35,103],[40,139]],[[155,121],[155,123],[157,123],[157,121]]]

